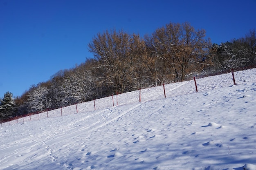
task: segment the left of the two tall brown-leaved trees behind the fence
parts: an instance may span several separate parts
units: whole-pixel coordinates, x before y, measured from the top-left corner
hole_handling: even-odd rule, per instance
[[[140,77],[138,61],[146,51],[144,41],[139,35],[129,35],[124,31],[106,31],[98,33],[88,44],[89,51],[98,60],[98,71],[103,70],[101,82],[114,86],[121,93],[133,87],[135,79]]]

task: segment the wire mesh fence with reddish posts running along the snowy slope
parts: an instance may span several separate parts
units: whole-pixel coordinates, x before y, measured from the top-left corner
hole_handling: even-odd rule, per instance
[[[233,74],[232,72],[215,74],[215,76],[211,76],[210,74],[196,75],[194,77],[195,79],[184,82],[165,84],[158,87],[144,88],[137,91],[112,95],[110,97],[104,97],[81,104],[74,104],[72,106],[45,111],[43,113],[25,115],[24,117],[16,117],[11,121],[1,123],[0,126],[2,127],[7,125],[13,125],[16,123],[35,121],[48,117],[59,117],[75,113],[84,113],[110,108],[117,105],[132,104],[140,101],[146,102],[149,100],[162,99],[164,97],[177,97],[180,95],[196,93],[195,82],[198,92],[232,86],[234,85],[234,82],[236,82],[237,85],[256,82],[256,68],[244,71],[236,71]],[[70,110],[73,111],[70,112]]]

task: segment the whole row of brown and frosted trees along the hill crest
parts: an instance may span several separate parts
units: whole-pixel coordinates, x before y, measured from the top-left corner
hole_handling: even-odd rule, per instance
[[[0,121],[107,97],[138,88],[181,82],[203,71],[256,66],[255,29],[245,37],[212,44],[204,29],[169,23],[141,37],[123,30],[98,33],[88,44],[94,58],[58,71],[21,96],[0,99]]]

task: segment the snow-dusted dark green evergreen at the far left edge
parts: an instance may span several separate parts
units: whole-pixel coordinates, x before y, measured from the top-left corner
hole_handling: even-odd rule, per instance
[[[4,98],[0,99],[0,121],[14,116],[15,111],[16,103],[13,99],[13,94],[7,92],[4,94]]]

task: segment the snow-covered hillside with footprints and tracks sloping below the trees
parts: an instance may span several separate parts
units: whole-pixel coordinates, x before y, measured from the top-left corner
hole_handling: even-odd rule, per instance
[[[96,110],[88,102],[7,122],[0,169],[256,170],[255,73],[236,73],[237,85],[230,74],[198,79],[198,93],[181,82],[166,85],[166,98],[159,86],[141,91],[142,102],[135,91],[114,107],[107,97]]]

